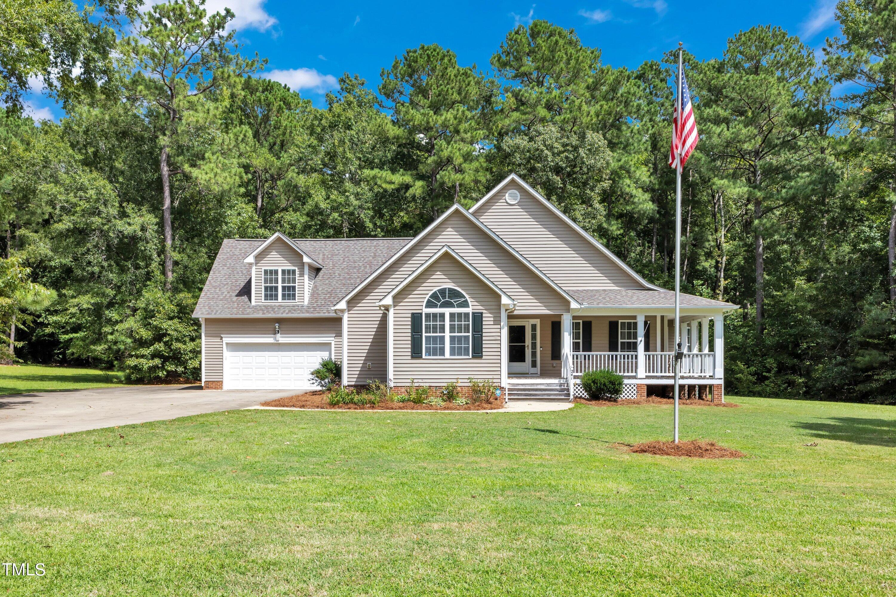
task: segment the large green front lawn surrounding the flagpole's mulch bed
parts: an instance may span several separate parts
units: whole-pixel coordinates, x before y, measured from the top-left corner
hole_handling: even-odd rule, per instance
[[[0,594],[896,594],[896,408],[732,399],[683,407],[682,436],[740,460],[615,446],[667,438],[668,406],[238,411],[2,445],[0,559],[47,574]]]

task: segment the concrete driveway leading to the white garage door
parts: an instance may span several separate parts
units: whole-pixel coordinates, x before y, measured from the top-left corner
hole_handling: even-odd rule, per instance
[[[245,408],[293,394],[296,390],[130,386],[0,396],[0,443]]]

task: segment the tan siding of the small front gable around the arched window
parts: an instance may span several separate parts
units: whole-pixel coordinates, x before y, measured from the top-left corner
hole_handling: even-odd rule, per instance
[[[423,310],[426,297],[436,288],[455,286],[470,299],[472,311],[482,311],[482,358],[410,358],[410,314]],[[392,383],[442,386],[460,380],[501,380],[501,296],[451,255],[443,255],[405,287],[394,299],[392,320]],[[447,346],[446,346],[447,352]]]

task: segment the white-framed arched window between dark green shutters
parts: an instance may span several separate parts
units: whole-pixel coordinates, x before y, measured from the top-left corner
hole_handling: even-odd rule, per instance
[[[423,305],[423,355],[469,357],[470,317],[470,300],[457,288],[430,293]]]

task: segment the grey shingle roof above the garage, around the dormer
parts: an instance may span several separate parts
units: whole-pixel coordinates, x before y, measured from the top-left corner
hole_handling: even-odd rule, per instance
[[[308,304],[253,305],[252,264],[243,260],[265,240],[228,239],[221,244],[193,311],[194,317],[332,315],[334,304],[410,241],[409,238],[295,239],[309,257],[323,265],[314,278]]]

